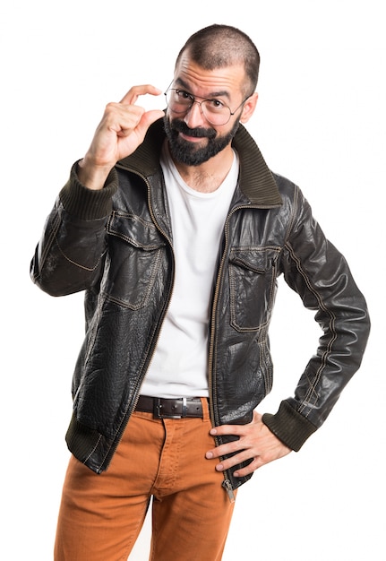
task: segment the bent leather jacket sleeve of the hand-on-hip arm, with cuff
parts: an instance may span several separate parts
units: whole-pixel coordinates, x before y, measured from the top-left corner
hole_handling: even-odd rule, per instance
[[[321,427],[359,368],[370,320],[365,298],[346,259],[324,237],[298,189],[293,216],[282,268],[287,284],[307,308],[316,311],[322,336],[294,397],[282,401],[275,415],[266,413],[262,420],[284,444],[297,451]]]

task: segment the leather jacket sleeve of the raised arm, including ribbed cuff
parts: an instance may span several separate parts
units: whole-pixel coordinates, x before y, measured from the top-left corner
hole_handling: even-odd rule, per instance
[[[100,191],[82,186],[77,163],[47,217],[30,264],[30,276],[51,296],[88,289],[99,279],[106,252],[106,223],[117,189],[116,171]]]

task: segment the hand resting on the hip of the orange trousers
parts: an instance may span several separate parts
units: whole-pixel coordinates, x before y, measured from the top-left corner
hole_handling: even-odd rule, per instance
[[[234,472],[234,476],[244,477],[266,463],[279,460],[291,452],[277,436],[262,422],[262,415],[253,411],[253,419],[247,425],[220,425],[210,430],[211,436],[235,435],[238,440],[227,444],[220,444],[209,450],[205,456],[208,460],[219,458],[229,453],[235,453],[231,458],[216,465],[216,470],[224,471],[237,463],[253,459],[244,469]]]

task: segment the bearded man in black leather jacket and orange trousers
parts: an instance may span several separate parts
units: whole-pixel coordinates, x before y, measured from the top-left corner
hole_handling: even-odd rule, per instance
[[[56,561],[126,558],[150,497],[151,559],[220,559],[236,489],[299,450],[360,365],[365,299],[244,129],[258,70],[242,31],[193,34],[166,112],[136,104],[151,85],[108,104],[48,217],[33,280],[86,290]],[[322,337],[294,397],[261,415],[279,274]]]

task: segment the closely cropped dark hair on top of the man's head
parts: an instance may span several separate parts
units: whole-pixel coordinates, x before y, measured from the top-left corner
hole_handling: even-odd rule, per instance
[[[178,53],[176,65],[185,51],[205,70],[243,63],[249,80],[245,90],[252,94],[259,77],[260,55],[252,39],[230,25],[213,24],[196,31]],[[247,91],[245,91],[247,93]]]

